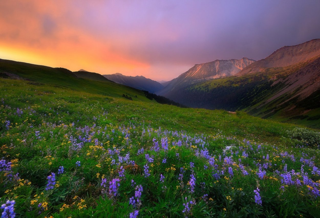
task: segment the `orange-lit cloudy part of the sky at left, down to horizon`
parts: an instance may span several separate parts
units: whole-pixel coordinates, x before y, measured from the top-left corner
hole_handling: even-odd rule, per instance
[[[0,58],[100,74],[148,71],[148,63],[112,51],[114,41],[106,42],[81,26],[70,25],[83,12],[74,9],[70,17],[66,10],[70,7],[63,2],[20,3],[1,3],[5,19],[0,19],[0,29],[5,31],[0,34]],[[12,8],[16,9],[9,13]]]

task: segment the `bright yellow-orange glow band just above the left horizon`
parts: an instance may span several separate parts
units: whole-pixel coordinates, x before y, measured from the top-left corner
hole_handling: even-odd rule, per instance
[[[110,54],[112,55],[112,54]],[[0,44],[0,58],[20,62],[26,62],[37,65],[64,67],[71,71],[84,69],[99,74],[122,73],[124,75],[135,76],[137,73],[147,72],[149,66],[144,63],[134,62],[132,60],[123,60],[115,58],[107,60],[99,58],[99,55],[92,56],[90,53],[83,54],[81,51],[75,51],[72,48],[64,51],[41,51],[26,48],[24,46],[8,46]]]

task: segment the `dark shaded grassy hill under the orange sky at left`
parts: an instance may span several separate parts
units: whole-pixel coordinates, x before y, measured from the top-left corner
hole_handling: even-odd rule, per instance
[[[75,74],[64,68],[52,68],[47,66],[33,65],[23,62],[0,59],[0,72],[9,72],[27,79],[27,84],[40,86],[52,85],[54,89],[68,88],[69,90],[84,91],[92,94],[100,94],[109,97],[121,97],[123,94],[131,96],[133,101],[146,101],[141,90],[116,84],[105,79],[97,81],[94,78],[77,78]],[[137,95],[137,97],[135,97]]]

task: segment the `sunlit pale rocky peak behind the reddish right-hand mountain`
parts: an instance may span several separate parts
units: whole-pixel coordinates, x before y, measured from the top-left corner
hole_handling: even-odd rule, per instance
[[[158,94],[165,95],[174,89],[190,84],[232,76],[253,62],[255,60],[244,57],[241,59],[214,60],[208,63],[195,64],[187,72],[171,80]]]

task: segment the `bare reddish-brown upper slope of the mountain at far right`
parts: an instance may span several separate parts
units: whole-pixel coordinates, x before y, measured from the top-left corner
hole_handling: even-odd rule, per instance
[[[284,46],[267,58],[256,61],[250,66],[245,67],[236,76],[244,74],[264,72],[270,67],[291,66],[320,55],[320,39],[313,39],[305,43],[293,46]]]

